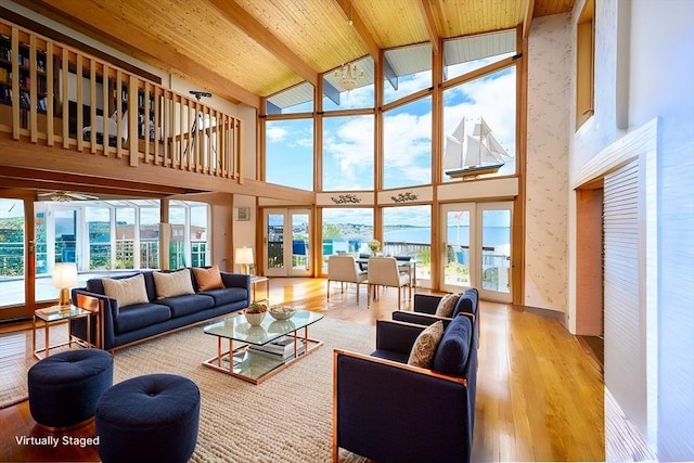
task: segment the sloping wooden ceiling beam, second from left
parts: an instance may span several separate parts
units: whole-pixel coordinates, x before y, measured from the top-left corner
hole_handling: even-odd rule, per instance
[[[250,36],[255,41],[274,54],[280,61],[290,66],[306,81],[316,87],[318,72],[294,53],[286,44],[277,38],[268,28],[241,8],[234,0],[208,0],[224,17]]]

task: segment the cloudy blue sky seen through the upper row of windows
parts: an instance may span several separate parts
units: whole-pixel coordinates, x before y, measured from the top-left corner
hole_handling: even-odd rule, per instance
[[[449,66],[454,77],[489,62]],[[430,87],[430,73],[400,77],[398,90],[386,86],[386,101]],[[515,154],[515,68],[447,89],[444,93],[444,136],[453,132],[463,117],[481,116],[504,149]],[[326,99],[325,99],[326,100]],[[432,99],[410,102],[390,110],[384,118],[384,187],[407,188],[430,182]],[[323,185],[326,191],[373,190],[374,117],[323,118]],[[373,86],[340,95],[342,108],[373,107]],[[292,112],[296,112],[296,107]],[[307,105],[304,111],[311,111]],[[312,119],[268,120],[268,181],[312,190]],[[507,163],[504,171],[514,171]]]

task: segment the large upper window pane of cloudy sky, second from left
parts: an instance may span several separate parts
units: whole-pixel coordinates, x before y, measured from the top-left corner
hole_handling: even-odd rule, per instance
[[[323,190],[373,190],[373,116],[323,118]]]

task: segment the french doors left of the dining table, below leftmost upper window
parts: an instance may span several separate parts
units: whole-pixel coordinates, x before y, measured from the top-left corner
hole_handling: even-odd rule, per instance
[[[309,209],[265,209],[262,255],[267,276],[310,276],[310,226]]]

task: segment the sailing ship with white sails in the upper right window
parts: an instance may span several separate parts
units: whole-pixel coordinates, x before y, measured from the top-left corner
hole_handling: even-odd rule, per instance
[[[444,173],[449,177],[476,177],[494,173],[511,156],[481,117],[463,117],[453,133],[446,137]]]

